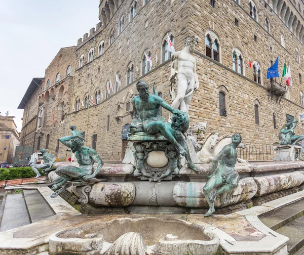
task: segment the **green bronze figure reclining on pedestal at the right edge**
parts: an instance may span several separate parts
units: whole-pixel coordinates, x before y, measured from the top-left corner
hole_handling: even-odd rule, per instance
[[[299,142],[304,140],[304,136],[294,135],[294,129],[296,128],[296,124],[297,120],[292,115],[287,114],[286,124],[280,131],[280,145],[297,145],[301,147],[301,149],[299,150],[299,152],[296,153],[296,155],[298,155],[300,160],[303,160],[303,145]]]

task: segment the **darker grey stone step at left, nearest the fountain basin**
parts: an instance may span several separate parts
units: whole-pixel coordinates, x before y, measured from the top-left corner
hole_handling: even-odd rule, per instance
[[[31,223],[55,215],[51,206],[46,202],[38,190],[23,190],[23,194]]]

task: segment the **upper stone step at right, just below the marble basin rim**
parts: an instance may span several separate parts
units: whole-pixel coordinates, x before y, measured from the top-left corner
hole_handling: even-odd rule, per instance
[[[276,210],[267,212],[258,218],[264,225],[276,231],[284,225],[301,217],[303,213],[304,199],[301,199],[292,204],[288,204]]]

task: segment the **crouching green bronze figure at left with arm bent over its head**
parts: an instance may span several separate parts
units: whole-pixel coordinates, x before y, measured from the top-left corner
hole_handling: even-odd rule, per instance
[[[73,129],[72,132],[79,131],[75,131]],[[85,139],[79,135],[60,138],[60,142],[70,148],[73,153],[75,153],[79,167],[67,165],[59,166],[56,169],[55,173],[60,176],[60,178],[53,181],[52,190],[55,192],[51,197],[58,196],[60,192],[64,191],[66,188],[72,185],[71,182],[79,182],[82,185],[87,185],[89,181],[102,181],[97,180],[94,177],[101,171],[103,162],[94,149],[84,146],[84,141]],[[97,167],[95,169],[95,172],[92,174],[94,162],[97,162]]]

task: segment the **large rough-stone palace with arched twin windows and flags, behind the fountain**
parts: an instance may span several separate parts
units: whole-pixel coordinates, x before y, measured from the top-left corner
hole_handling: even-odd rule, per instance
[[[68,126],[85,132],[86,145],[102,159],[121,160],[136,81],[146,80],[150,88],[155,82],[171,103],[167,38],[179,51],[184,38],[194,35],[200,88],[191,102],[191,124],[207,122],[207,132],[241,133],[250,146],[272,145],[289,113],[299,121],[296,134],[303,134],[303,10],[298,0],[102,0],[101,22],[78,40]],[[291,88],[282,81],[283,98],[269,93],[266,78],[278,56],[280,78],[272,84],[280,86],[284,61],[292,74]],[[163,116],[168,118],[166,110]]]

